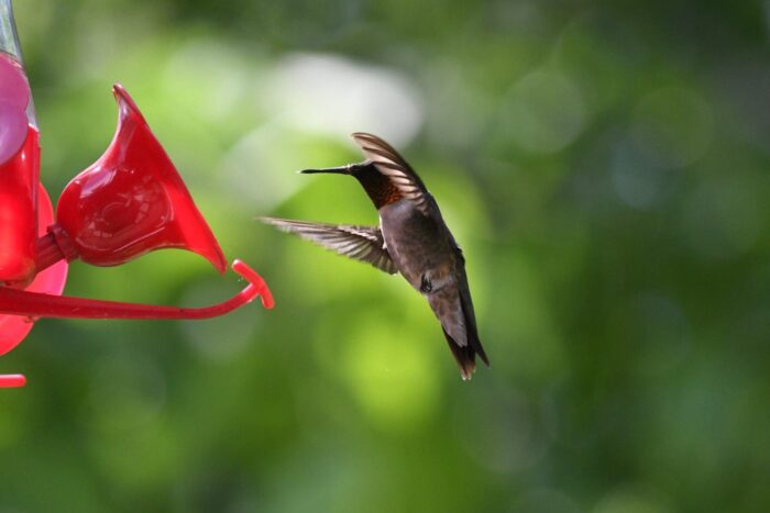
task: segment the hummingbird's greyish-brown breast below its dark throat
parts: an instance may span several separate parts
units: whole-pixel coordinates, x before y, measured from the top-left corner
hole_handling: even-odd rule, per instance
[[[380,209],[380,227],[398,270],[420,290],[425,276],[448,275],[453,269],[446,227],[422,214],[407,199]]]

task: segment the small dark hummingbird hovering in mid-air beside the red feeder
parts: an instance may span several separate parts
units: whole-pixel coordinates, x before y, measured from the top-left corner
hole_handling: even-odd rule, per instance
[[[463,380],[471,379],[475,357],[484,353],[465,275],[465,257],[417,172],[382,138],[352,135],[366,160],[301,174],[348,175],[361,183],[380,212],[378,226],[310,223],[260,218],[345,257],[402,276],[428,300]]]

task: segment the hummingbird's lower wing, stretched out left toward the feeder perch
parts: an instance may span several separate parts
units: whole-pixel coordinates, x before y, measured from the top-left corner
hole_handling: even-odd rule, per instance
[[[307,223],[277,218],[260,218],[263,223],[290,232],[327,249],[365,261],[388,275],[398,272],[378,226],[350,226]]]

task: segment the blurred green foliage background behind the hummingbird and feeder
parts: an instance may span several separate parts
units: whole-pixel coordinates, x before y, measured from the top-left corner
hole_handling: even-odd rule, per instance
[[[277,306],[43,321],[0,370],[0,511],[770,510],[770,7],[16,1],[56,198],[131,92]],[[460,380],[398,277],[261,225],[374,224],[382,135],[468,256],[492,369]],[[201,305],[158,252],[66,292]]]

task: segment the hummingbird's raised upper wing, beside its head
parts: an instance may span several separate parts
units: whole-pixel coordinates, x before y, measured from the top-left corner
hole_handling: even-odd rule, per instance
[[[415,207],[425,215],[429,215],[432,198],[425,183],[415,170],[407,164],[393,146],[376,135],[364,132],[353,134],[355,141],[363,150],[366,159],[393,183],[404,198],[415,203]]]

